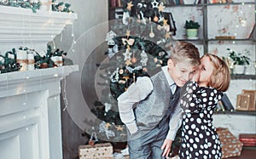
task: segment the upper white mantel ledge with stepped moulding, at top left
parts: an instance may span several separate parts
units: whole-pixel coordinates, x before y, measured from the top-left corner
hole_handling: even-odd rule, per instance
[[[48,43],[77,14],[0,6],[0,43]]]

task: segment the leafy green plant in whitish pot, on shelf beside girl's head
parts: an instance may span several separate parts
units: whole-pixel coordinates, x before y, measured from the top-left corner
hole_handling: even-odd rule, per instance
[[[246,50],[246,53],[236,53],[234,50],[227,48],[230,55],[230,60],[232,60],[234,66],[235,66],[235,72],[236,74],[244,74],[246,70],[246,65],[249,65],[250,58],[246,56],[246,54],[249,53],[249,51]]]

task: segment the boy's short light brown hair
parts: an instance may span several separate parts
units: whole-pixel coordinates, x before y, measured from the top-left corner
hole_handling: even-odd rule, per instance
[[[190,65],[200,65],[200,54],[194,44],[188,42],[177,42],[172,48],[170,58],[176,62],[188,62]]]

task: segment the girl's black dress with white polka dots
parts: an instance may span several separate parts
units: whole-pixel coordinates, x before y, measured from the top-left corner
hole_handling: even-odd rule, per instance
[[[223,93],[187,82],[180,100],[183,108],[181,159],[220,159],[221,147],[212,114]]]

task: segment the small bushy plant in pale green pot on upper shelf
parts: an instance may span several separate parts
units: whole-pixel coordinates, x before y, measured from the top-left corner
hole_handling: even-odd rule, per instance
[[[187,38],[188,39],[198,39],[198,28],[200,25],[198,22],[195,22],[194,20],[186,20],[184,28],[187,32]]]

